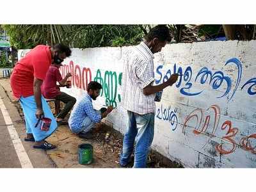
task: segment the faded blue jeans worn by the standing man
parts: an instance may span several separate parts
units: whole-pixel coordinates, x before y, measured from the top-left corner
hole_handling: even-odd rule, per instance
[[[145,168],[147,166],[148,150],[154,138],[155,113],[139,115],[127,111],[128,129],[124,134],[123,150],[120,157],[120,164],[125,166],[134,149],[134,168]]]

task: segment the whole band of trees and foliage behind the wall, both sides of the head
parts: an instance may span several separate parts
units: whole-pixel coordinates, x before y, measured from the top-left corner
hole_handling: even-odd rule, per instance
[[[63,43],[70,47],[136,45],[154,27],[143,25],[2,25],[16,49],[31,49],[38,44]],[[226,35],[228,40],[255,39],[255,25],[168,24],[173,42],[212,40]],[[224,33],[225,31],[225,33]]]

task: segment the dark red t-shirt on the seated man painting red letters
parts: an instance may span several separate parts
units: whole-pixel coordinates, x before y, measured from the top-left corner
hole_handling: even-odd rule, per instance
[[[57,67],[51,66],[47,71],[44,82],[41,86],[41,92],[47,99],[52,99],[60,95],[60,88],[57,86],[57,81],[62,80],[60,70]]]

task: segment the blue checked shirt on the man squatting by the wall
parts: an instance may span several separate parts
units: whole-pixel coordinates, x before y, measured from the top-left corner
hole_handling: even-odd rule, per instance
[[[80,129],[84,118],[89,117],[92,122],[99,123],[101,116],[93,109],[92,98],[87,93],[84,95],[70,114],[68,124],[72,129]]]

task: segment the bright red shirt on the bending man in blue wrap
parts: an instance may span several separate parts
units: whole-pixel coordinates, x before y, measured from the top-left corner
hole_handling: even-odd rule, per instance
[[[11,87],[14,97],[29,97],[34,95],[34,78],[44,81],[46,72],[52,63],[51,47],[37,45],[21,58],[13,68]]]

